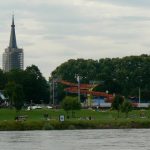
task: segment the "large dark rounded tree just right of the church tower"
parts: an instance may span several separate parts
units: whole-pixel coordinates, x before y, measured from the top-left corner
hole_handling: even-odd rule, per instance
[[[25,99],[29,103],[30,100],[33,103],[41,103],[41,100],[45,103],[49,102],[49,85],[46,79],[42,76],[42,73],[37,66],[32,65],[25,70],[24,80],[24,93]]]

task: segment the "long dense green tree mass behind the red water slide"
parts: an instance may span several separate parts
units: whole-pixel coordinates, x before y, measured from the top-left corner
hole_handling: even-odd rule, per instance
[[[52,72],[52,78],[61,78],[70,82],[77,82],[75,74],[83,78],[81,83],[99,81],[97,91],[124,96],[138,97],[141,88],[141,99],[150,100],[150,56],[129,56],[124,58],[71,59],[58,66]],[[59,87],[58,87],[59,89]],[[59,91],[59,99],[63,92]],[[63,93],[64,94],[64,93]]]

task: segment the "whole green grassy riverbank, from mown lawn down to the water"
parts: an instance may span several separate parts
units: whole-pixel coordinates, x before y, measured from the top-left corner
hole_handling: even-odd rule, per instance
[[[48,115],[47,119],[44,114]],[[15,121],[16,115],[26,116],[26,118]],[[64,122],[59,121],[59,115],[65,116]],[[117,112],[110,110],[80,110],[73,118],[71,113],[69,119],[66,116],[63,110],[55,109],[22,110],[19,113],[12,109],[0,109],[0,130],[150,128],[150,110],[134,110],[128,118],[125,118],[123,113],[120,113],[120,117],[117,118]]]

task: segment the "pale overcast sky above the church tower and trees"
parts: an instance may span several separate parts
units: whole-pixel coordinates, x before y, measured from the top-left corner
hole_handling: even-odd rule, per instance
[[[5,0],[0,4],[0,68],[12,14],[24,65],[47,79],[69,59],[150,54],[150,0]]]

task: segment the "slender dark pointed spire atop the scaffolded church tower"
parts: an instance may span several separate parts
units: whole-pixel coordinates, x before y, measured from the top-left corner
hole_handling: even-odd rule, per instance
[[[14,24],[14,15],[12,16],[12,25],[11,25],[9,48],[17,48],[16,34],[15,34],[15,24]]]

